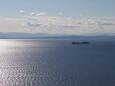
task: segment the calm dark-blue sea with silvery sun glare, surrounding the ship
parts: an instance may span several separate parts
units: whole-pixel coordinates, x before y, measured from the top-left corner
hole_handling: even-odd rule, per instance
[[[0,40],[0,86],[115,86],[115,40]]]

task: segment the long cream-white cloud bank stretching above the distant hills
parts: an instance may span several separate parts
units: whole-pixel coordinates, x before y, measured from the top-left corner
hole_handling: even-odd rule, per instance
[[[20,10],[20,13],[23,13]],[[81,18],[72,19],[62,16],[47,16],[41,12],[20,18],[0,18],[0,32],[19,32],[56,35],[89,35],[115,33],[115,18]]]

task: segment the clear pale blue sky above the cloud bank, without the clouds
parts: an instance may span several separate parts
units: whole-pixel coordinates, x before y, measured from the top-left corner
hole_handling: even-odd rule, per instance
[[[115,0],[0,0],[0,16],[19,16],[18,11],[64,16],[115,16]]]

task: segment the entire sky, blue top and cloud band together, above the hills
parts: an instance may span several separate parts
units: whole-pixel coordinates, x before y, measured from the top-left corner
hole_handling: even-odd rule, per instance
[[[115,35],[115,0],[0,0],[0,32]]]

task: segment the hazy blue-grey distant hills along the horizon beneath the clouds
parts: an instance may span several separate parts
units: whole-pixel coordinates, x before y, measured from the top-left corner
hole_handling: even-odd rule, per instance
[[[93,38],[115,38],[114,35],[86,34],[86,35],[53,35],[53,34],[31,34],[31,33],[2,33],[0,39],[93,39]]]

